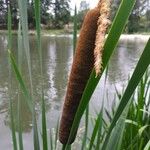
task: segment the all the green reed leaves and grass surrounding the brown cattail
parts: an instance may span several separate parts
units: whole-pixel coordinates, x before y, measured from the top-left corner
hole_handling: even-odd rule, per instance
[[[103,54],[103,72],[109,63],[110,57],[115,50],[115,47],[119,41],[119,37],[123,32],[130,12],[135,4],[136,0],[122,0],[120,7],[118,9],[117,15],[112,23],[111,29],[109,31],[108,37],[104,46]],[[40,60],[40,76],[41,76],[41,110],[42,110],[42,130],[36,121],[35,116],[35,106],[34,106],[34,96],[33,96],[33,85],[32,85],[32,67],[30,58],[30,47],[28,38],[28,22],[27,22],[27,6],[26,0],[19,0],[19,13],[20,13],[20,28],[18,30],[18,50],[19,58],[22,53],[21,50],[24,49],[26,53],[26,61],[28,64],[30,87],[28,87],[21,75],[21,61],[17,64],[15,57],[12,53],[11,47],[11,12],[9,10],[8,14],[8,31],[9,31],[9,60],[10,60],[10,70],[14,70],[16,79],[18,81],[18,89],[23,92],[26,103],[32,113],[33,119],[33,141],[35,150],[53,150],[61,149],[60,143],[58,145],[58,128],[55,129],[55,135],[53,131],[48,132],[48,127],[46,123],[46,112],[45,112],[45,102],[44,102],[44,92],[43,92],[43,71],[42,71],[42,51],[41,51],[41,29],[40,29],[40,0],[35,0],[35,18],[36,18],[36,33],[37,33],[37,49]],[[75,8],[75,28],[74,28],[74,49],[76,43],[76,8]],[[22,34],[21,34],[22,33]],[[117,109],[112,108],[112,112],[109,112],[104,108],[104,106],[99,110],[96,117],[91,119],[90,110],[88,107],[89,101],[96,86],[101,78],[95,78],[95,71],[92,72],[86,89],[83,93],[81,103],[79,105],[78,111],[76,113],[74,123],[71,129],[70,138],[79,127],[80,120],[85,112],[85,130],[82,139],[80,139],[81,144],[78,143],[79,149],[84,150],[148,150],[150,148],[150,73],[147,70],[150,64],[150,40],[148,40],[145,49],[138,61],[138,64],[131,76],[126,89],[122,94],[119,94],[116,90],[116,101],[119,102]],[[102,73],[103,73],[102,72]],[[145,75],[144,75],[145,74]],[[143,77],[144,75],[144,77]],[[10,72],[11,80],[11,72]],[[18,115],[18,128],[19,128],[19,140],[16,138],[16,133],[14,129],[14,118],[11,100],[11,82],[10,82],[10,113],[11,113],[11,125],[12,125],[12,139],[13,139],[13,149],[23,150],[23,139],[21,130],[21,118]],[[120,96],[119,96],[120,95]],[[86,111],[85,111],[86,110]],[[20,100],[18,100],[18,114],[20,114]],[[105,115],[104,115],[105,114]],[[106,118],[104,116],[107,116]],[[90,124],[93,123],[93,127]],[[90,128],[90,129],[89,129]],[[89,132],[92,131],[92,132]],[[39,132],[42,134],[40,135]],[[49,136],[50,135],[50,136]],[[40,138],[42,137],[42,142]],[[42,143],[42,144],[41,144]],[[19,147],[18,147],[19,145]],[[62,145],[62,149],[73,149],[74,146]]]

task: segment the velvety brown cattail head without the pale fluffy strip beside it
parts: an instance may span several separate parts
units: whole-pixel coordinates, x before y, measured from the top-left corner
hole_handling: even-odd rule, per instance
[[[96,54],[99,55],[97,50],[99,46],[95,46],[95,41],[98,44],[101,5],[87,13],[80,32],[60,121],[59,140],[62,144],[74,142],[75,135],[69,139],[73,120],[94,64],[97,64],[94,61],[99,61],[95,56]],[[94,49],[96,49],[95,53]]]

